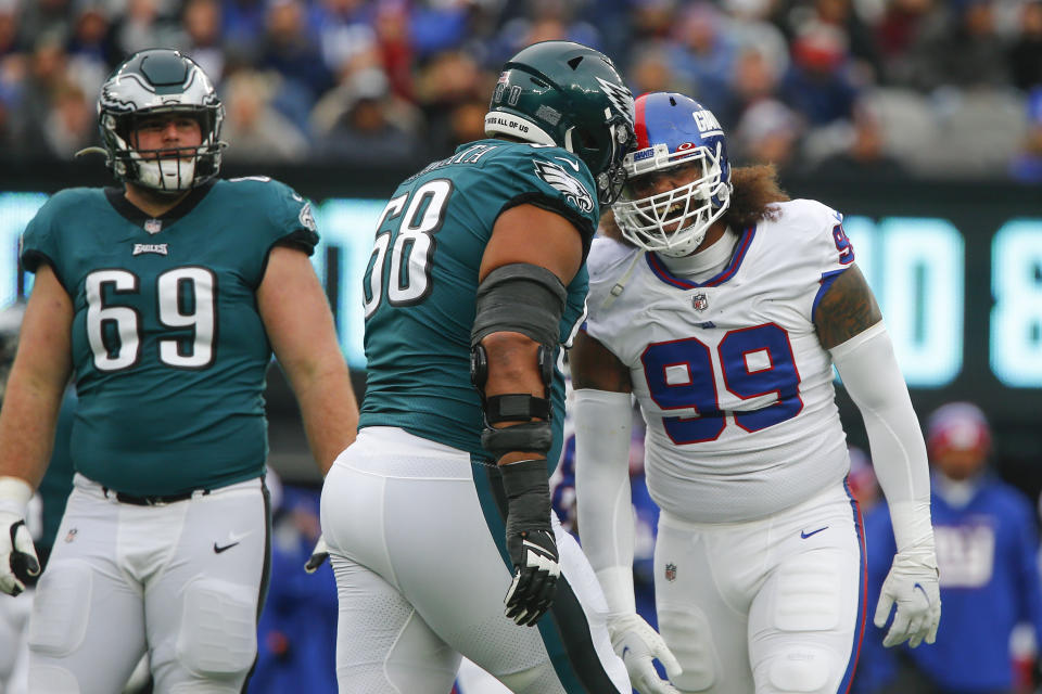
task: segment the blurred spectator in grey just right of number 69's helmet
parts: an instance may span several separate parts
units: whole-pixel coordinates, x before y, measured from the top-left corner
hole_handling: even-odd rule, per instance
[[[304,133],[271,106],[281,78],[275,74],[239,72],[225,81],[223,137],[228,162],[301,162],[309,151]]]

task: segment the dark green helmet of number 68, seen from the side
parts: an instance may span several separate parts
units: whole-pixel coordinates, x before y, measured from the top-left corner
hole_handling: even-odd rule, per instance
[[[636,143],[633,94],[607,55],[572,41],[543,41],[507,61],[485,116],[485,134],[559,146],[582,159],[610,205]]]

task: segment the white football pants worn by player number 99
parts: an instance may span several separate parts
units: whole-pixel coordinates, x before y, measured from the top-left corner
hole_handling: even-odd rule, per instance
[[[865,620],[864,534],[844,485],[748,523],[659,517],[659,629],[682,692],[835,694]]]

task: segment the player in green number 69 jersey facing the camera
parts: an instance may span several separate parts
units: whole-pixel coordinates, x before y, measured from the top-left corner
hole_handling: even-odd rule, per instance
[[[219,180],[223,106],[154,49],[105,81],[122,188],[51,197],[22,237],[36,272],[0,412],[0,590],[39,573],[25,505],[65,383],[76,475],[29,627],[29,691],[111,693],[148,652],[156,691],[240,692],[268,566],[263,390],[272,351],[325,472],[357,408],[308,255],[308,203]]]

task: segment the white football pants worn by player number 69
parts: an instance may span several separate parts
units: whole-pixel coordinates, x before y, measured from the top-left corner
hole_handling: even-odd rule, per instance
[[[33,605],[29,691],[119,692],[148,650],[156,692],[240,692],[267,584],[260,479],[155,506],[73,485]]]

